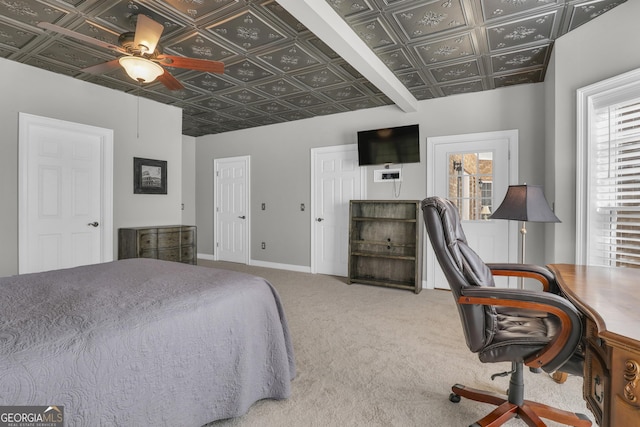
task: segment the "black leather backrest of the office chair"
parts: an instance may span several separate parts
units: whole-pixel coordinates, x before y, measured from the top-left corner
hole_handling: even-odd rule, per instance
[[[495,286],[491,270],[467,244],[458,208],[449,200],[429,197],[422,201],[422,214],[431,246],[456,302],[462,289]],[[482,350],[496,331],[496,312],[491,306],[457,304],[467,346]]]

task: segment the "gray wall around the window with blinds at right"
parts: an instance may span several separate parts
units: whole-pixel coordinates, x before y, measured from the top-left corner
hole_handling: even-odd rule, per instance
[[[628,1],[556,40],[545,77],[546,189],[562,220],[547,229],[548,260],[575,261],[576,90],[640,67],[640,1]]]

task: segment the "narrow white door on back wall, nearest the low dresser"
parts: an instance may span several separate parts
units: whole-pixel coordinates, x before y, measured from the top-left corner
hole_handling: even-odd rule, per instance
[[[248,156],[214,160],[215,248],[218,261],[249,263]]]

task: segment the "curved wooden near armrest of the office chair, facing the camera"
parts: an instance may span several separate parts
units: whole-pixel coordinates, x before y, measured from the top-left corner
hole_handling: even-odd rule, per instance
[[[560,331],[551,341],[526,360],[524,364],[533,368],[555,370],[573,354],[582,337],[580,312],[571,302],[559,295],[522,289],[473,287],[461,291],[459,304],[479,304],[497,307],[515,307],[543,311],[560,320]]]

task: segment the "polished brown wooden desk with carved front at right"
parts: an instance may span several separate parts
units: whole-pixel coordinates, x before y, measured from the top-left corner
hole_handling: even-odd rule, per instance
[[[640,269],[549,268],[585,315],[587,406],[602,427],[640,427]]]

